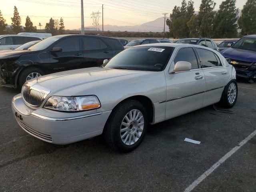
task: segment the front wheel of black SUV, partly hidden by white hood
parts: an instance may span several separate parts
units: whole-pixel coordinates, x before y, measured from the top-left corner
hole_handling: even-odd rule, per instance
[[[22,70],[22,72],[20,73],[19,77],[18,77],[18,86],[21,88],[22,85],[33,78],[37,78],[40,77],[42,75],[44,75],[45,73],[38,68],[35,67],[31,67],[31,68],[26,68],[24,70]]]

